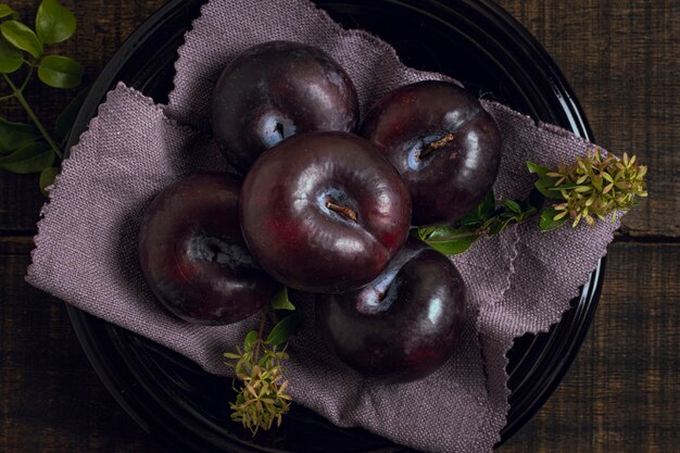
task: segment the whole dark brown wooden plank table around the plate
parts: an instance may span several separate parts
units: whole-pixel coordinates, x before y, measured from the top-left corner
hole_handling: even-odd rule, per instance
[[[163,0],[64,1],[79,29],[65,54],[93,80]],[[36,1],[9,2],[33,16]],[[677,452],[680,449],[680,2],[501,0],[572,85],[597,142],[651,173],[650,199],[609,247],[594,324],[539,414],[500,449]],[[68,99],[32,87],[38,115]],[[2,116],[24,121],[1,104]],[[0,176],[0,452],[158,452],[91,369],[64,306],[24,282],[42,197],[37,177]]]

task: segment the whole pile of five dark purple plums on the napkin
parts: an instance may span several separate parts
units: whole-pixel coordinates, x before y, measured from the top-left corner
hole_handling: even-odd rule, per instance
[[[161,303],[190,323],[228,324],[282,284],[316,294],[329,349],[366,376],[413,381],[446,362],[465,282],[410,230],[477,205],[498,173],[500,133],[446,81],[400,87],[358,119],[351,78],[319,49],[272,41],[234,59],[212,128],[240,175],[186,177],[142,222],[141,268]]]

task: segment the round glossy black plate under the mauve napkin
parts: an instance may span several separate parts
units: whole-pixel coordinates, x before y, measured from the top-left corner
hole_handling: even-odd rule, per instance
[[[118,80],[156,102],[167,101],[176,50],[202,3],[169,1],[125,42],[95,83],[72,137],[86,129]],[[583,112],[554,62],[521,25],[489,0],[316,3],[345,27],[367,29],[390,42],[410,66],[449,74],[479,96],[592,140]],[[503,441],[538,411],[566,373],[591,323],[601,280],[599,264],[559,324],[547,334],[518,339],[508,353],[512,395]],[[362,429],[337,428],[300,406],[281,428],[253,439],[229,420],[229,379],[207,375],[182,356],[72,306],[67,310],[104,385],[173,452],[403,451]]]

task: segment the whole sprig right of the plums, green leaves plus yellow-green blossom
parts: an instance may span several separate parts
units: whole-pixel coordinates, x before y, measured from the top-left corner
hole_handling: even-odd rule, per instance
[[[538,175],[534,190],[525,201],[504,200],[495,206],[493,191],[487,193],[477,209],[453,225],[415,228],[412,235],[446,255],[465,252],[482,236],[493,236],[511,224],[520,224],[540,213],[539,228],[550,231],[571,219],[590,226],[595,218],[615,222],[619,212],[633,207],[639,198],[647,197],[647,167],[637,158],[624,153],[603,158],[599,148],[570,165],[557,169],[527,162],[530,173]],[[542,210],[537,206],[544,205]]]

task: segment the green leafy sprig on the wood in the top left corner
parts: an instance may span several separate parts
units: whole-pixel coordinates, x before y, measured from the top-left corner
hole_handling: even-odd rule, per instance
[[[46,52],[46,46],[66,41],[75,30],[75,16],[56,0],[42,0],[35,28],[22,23],[10,5],[0,3],[0,90],[2,85],[7,90],[0,92],[0,101],[16,101],[33,123],[0,117],[0,168],[17,174],[39,173],[42,193],[59,173],[63,148],[86,92],[76,96],[59,115],[52,135],[29,105],[25,91],[34,74],[52,88],[80,86],[83,65],[68,56]]]

